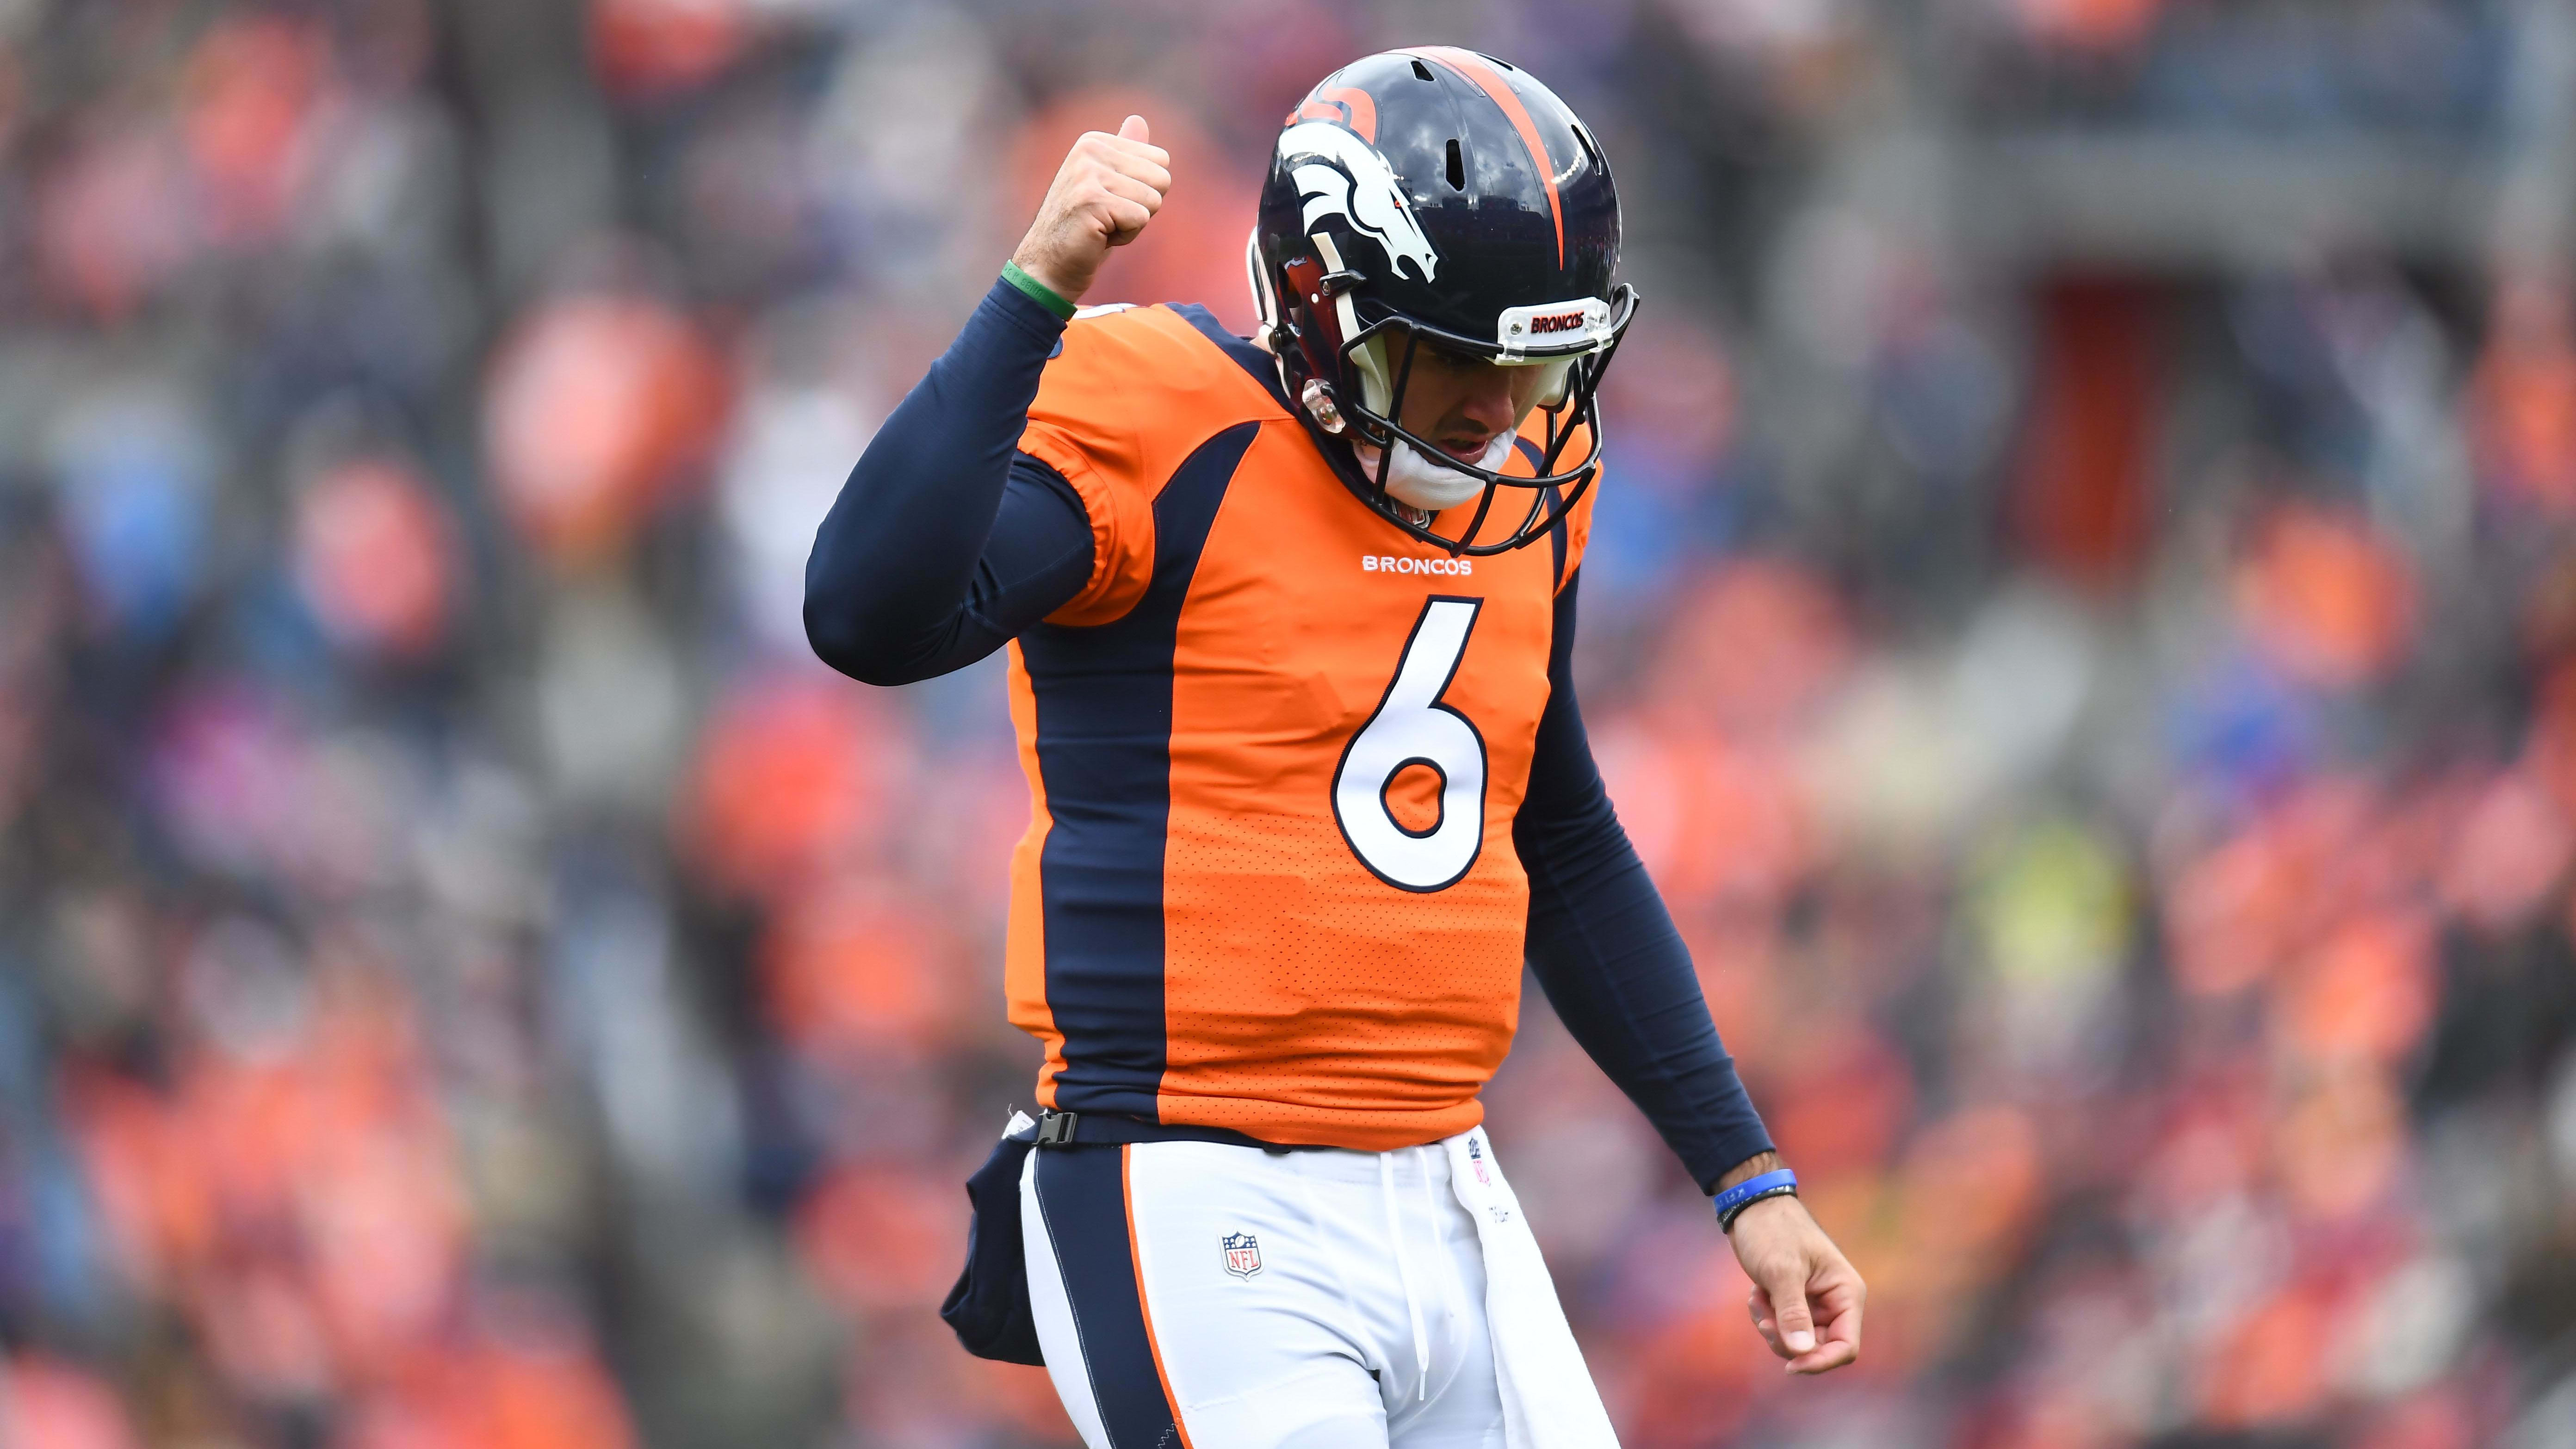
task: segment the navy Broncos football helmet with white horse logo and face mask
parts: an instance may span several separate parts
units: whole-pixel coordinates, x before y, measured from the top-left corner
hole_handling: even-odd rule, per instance
[[[1481,557],[1548,536],[1600,474],[1597,389],[1636,317],[1636,289],[1610,281],[1618,232],[1610,162],[1564,101],[1494,57],[1414,46],[1327,75],[1288,116],[1244,266],[1342,482],[1414,539]],[[1399,423],[1419,348],[1546,369],[1533,477],[1499,469],[1512,438],[1463,462]],[[1455,536],[1435,531],[1479,492]],[[1517,523],[1484,539],[1497,503]]]

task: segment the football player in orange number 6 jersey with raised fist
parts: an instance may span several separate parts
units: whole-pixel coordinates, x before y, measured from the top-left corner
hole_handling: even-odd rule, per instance
[[[1072,147],[806,570],[860,681],[1010,652],[1046,1116],[979,1173],[953,1323],[1043,1359],[1092,1449],[1613,1444],[1476,1101],[1528,962],[1716,1196],[1772,1351],[1850,1364],[1862,1281],[1574,704],[1636,315],[1600,139],[1473,52],[1329,75],[1262,186],[1249,340],[1077,309],[1172,186],[1139,116]]]

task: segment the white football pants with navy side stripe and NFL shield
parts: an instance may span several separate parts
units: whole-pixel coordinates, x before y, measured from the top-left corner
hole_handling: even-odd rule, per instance
[[[1615,1449],[1484,1129],[1038,1147],[1038,1343],[1090,1449]]]

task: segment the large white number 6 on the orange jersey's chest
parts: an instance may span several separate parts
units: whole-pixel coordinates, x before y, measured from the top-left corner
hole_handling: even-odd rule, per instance
[[[1332,771],[1332,817],[1342,841],[1396,890],[1448,890],[1484,846],[1484,735],[1466,714],[1440,704],[1479,608],[1481,598],[1432,598],[1422,606],[1386,699]],[[1386,789],[1406,766],[1430,766],[1440,776],[1440,820],[1425,830],[1409,830],[1386,807]]]

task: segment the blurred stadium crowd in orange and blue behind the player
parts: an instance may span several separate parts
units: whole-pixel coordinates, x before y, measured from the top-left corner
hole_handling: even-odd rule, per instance
[[[1620,170],[1587,712],[1873,1287],[1785,1382],[1530,993],[1625,1444],[2576,1444],[2563,0],[0,0],[0,1444],[1069,1444],[999,678],[804,552],[1074,131],[1249,325],[1412,39]]]

